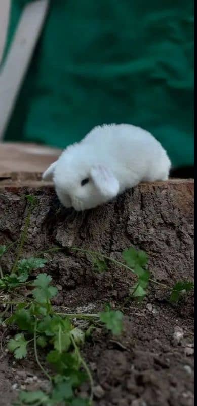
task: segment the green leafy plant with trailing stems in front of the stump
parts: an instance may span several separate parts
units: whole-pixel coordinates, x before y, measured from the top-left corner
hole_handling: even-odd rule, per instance
[[[92,329],[105,327],[113,335],[123,331],[123,313],[120,310],[112,310],[107,306],[105,310],[97,314],[69,314],[59,313],[54,310],[52,300],[56,297],[58,289],[52,284],[52,278],[45,272],[32,276],[34,270],[43,269],[47,260],[43,258],[46,253],[57,251],[78,251],[91,256],[93,269],[97,272],[105,272],[108,262],[127,269],[136,277],[136,283],[130,288],[129,298],[143,300],[147,294],[149,283],[160,285],[169,290],[171,303],[178,302],[186,293],[190,292],[194,285],[189,281],[179,281],[172,288],[151,278],[148,270],[148,256],[144,251],[133,247],[122,253],[123,263],[107,257],[102,253],[85,250],[77,247],[61,248],[53,247],[43,251],[36,257],[22,258],[22,250],[28,233],[30,216],[36,205],[34,196],[26,196],[28,201],[28,214],[24,229],[16,250],[16,259],[11,272],[4,273],[0,266],[0,304],[5,306],[0,314],[0,321],[4,325],[14,324],[18,333],[8,342],[8,350],[16,359],[26,358],[29,351],[34,351],[34,357],[42,373],[50,382],[49,393],[44,391],[20,391],[16,406],[90,406],[93,402],[94,382],[89,366],[81,355],[87,337]],[[13,244],[11,244],[13,245]],[[11,246],[10,245],[10,246]],[[0,246],[0,259],[8,251],[10,246]],[[24,295],[24,288],[31,293],[31,298]],[[7,299],[5,299],[7,298]],[[12,308],[11,315],[7,316]],[[76,327],[75,319],[89,321],[87,330]],[[40,354],[45,354],[45,362],[41,363]],[[48,368],[55,371],[51,375]],[[86,380],[90,383],[89,398],[77,396],[77,390]]]

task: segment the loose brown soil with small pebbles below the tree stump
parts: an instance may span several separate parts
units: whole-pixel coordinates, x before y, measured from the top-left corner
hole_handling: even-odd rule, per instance
[[[129,276],[128,276],[129,277]],[[106,276],[95,275],[95,283],[106,281]],[[124,284],[124,282],[123,282]],[[106,284],[105,284],[106,286]],[[61,286],[59,286],[61,289]],[[90,291],[91,286],[87,286]],[[69,290],[72,301],[75,289]],[[121,308],[117,291],[105,291],[105,301]],[[76,293],[76,292],[75,292]],[[78,288],[75,307],[77,312],[96,312],[101,301],[83,300],[84,289]],[[61,303],[61,293],[57,298]],[[122,309],[124,332],[119,337],[97,331],[83,349],[95,382],[95,406],[192,406],[193,398],[193,299],[191,296],[178,306],[165,300],[164,292],[154,288],[143,303],[129,302]],[[28,361],[14,361],[6,353],[5,344],[16,331],[2,330],[0,363],[1,406],[11,406],[19,389],[45,390],[48,382],[34,363],[33,354]],[[178,332],[178,333],[177,333]],[[88,396],[88,384],[81,389]]]

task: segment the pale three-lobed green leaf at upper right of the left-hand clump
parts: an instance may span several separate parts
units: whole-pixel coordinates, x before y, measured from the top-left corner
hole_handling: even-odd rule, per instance
[[[35,289],[33,289],[32,294],[34,299],[38,303],[47,303],[49,300],[56,296],[58,293],[58,290],[54,286],[49,286],[52,278],[51,276],[47,274],[39,274],[35,281],[33,282],[33,286],[36,286]]]

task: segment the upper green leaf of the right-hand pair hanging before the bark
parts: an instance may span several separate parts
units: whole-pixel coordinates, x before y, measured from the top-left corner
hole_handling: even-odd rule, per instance
[[[123,259],[130,268],[134,268],[136,265],[145,267],[148,262],[148,256],[145,251],[136,250],[133,247],[130,247],[123,251]]]

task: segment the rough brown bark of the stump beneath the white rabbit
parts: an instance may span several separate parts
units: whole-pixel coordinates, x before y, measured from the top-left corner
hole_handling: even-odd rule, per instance
[[[7,174],[8,176],[8,174]],[[51,184],[23,175],[10,175],[0,182],[0,244],[19,240],[27,215],[25,195],[37,197],[30,217],[23,257],[38,255],[54,246],[80,247],[121,260],[130,246],[149,256],[149,268],[157,281],[174,284],[193,278],[193,180],[144,183],[128,190],[109,204],[76,213],[60,206]],[[8,270],[14,246],[3,257]],[[46,254],[50,273],[62,287],[60,304],[105,299],[107,292],[123,298],[133,276],[109,263],[103,274],[92,269],[88,254],[70,251]]]

